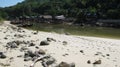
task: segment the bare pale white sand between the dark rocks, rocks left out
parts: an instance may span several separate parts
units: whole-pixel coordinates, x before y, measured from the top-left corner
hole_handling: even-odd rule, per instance
[[[86,36],[72,36],[56,33],[41,32],[34,35],[32,30],[22,29],[25,32],[17,32],[13,30],[8,21],[0,25],[0,51],[5,52],[7,55],[6,59],[0,59],[0,63],[10,64],[8,67],[27,67],[32,61],[24,61],[24,58],[18,58],[18,55],[24,55],[24,52],[20,52],[20,48],[6,51],[5,45],[7,42],[14,40],[25,40],[34,41],[36,45],[39,46],[42,40],[46,40],[47,37],[56,39],[56,42],[51,42],[48,46],[39,46],[54,57],[57,63],[60,62],[74,62],[76,67],[120,67],[120,40],[117,39],[107,39],[107,38],[97,38],[97,37],[86,37]],[[6,33],[4,33],[6,32]],[[14,34],[25,35],[24,38],[14,37]],[[31,37],[29,37],[31,36]],[[8,39],[5,40],[4,37]],[[63,45],[63,41],[67,41],[67,45]],[[28,47],[35,51],[35,47]],[[83,53],[80,52],[83,50]],[[100,53],[99,55],[95,55]],[[63,56],[68,54],[66,56]],[[106,56],[109,54],[110,56]],[[14,57],[11,62],[10,58]],[[93,65],[92,63],[96,60],[101,60],[102,63],[99,65]],[[90,60],[91,64],[87,61]],[[2,66],[0,66],[2,67]],[[42,67],[41,63],[38,62],[35,67]]]

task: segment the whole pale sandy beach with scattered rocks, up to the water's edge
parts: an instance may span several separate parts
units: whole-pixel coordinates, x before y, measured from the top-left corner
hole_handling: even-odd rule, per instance
[[[11,46],[10,43],[17,46]],[[41,42],[49,44],[42,44]],[[26,59],[26,52],[40,50],[40,56],[54,58],[46,67],[120,67],[120,40],[87,36],[57,34],[18,28],[9,21],[0,24],[0,67],[30,67],[34,62]],[[31,57],[31,56],[30,56]],[[44,60],[44,59],[43,59]],[[45,67],[40,60],[34,67]],[[53,59],[52,59],[53,60]],[[64,62],[69,66],[60,66]],[[74,64],[70,66],[70,64]]]

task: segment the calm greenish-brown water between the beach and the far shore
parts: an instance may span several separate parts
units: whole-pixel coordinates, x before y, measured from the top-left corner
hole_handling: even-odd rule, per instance
[[[108,37],[120,39],[120,29],[105,28],[105,27],[81,27],[77,25],[63,25],[63,24],[45,24],[36,23],[30,29],[56,32],[60,34],[70,33],[72,35],[84,35],[95,37]]]

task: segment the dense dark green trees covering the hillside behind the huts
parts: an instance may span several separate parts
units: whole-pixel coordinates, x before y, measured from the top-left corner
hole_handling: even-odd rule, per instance
[[[25,0],[15,6],[0,8],[0,19],[41,14],[120,19],[120,0]]]

